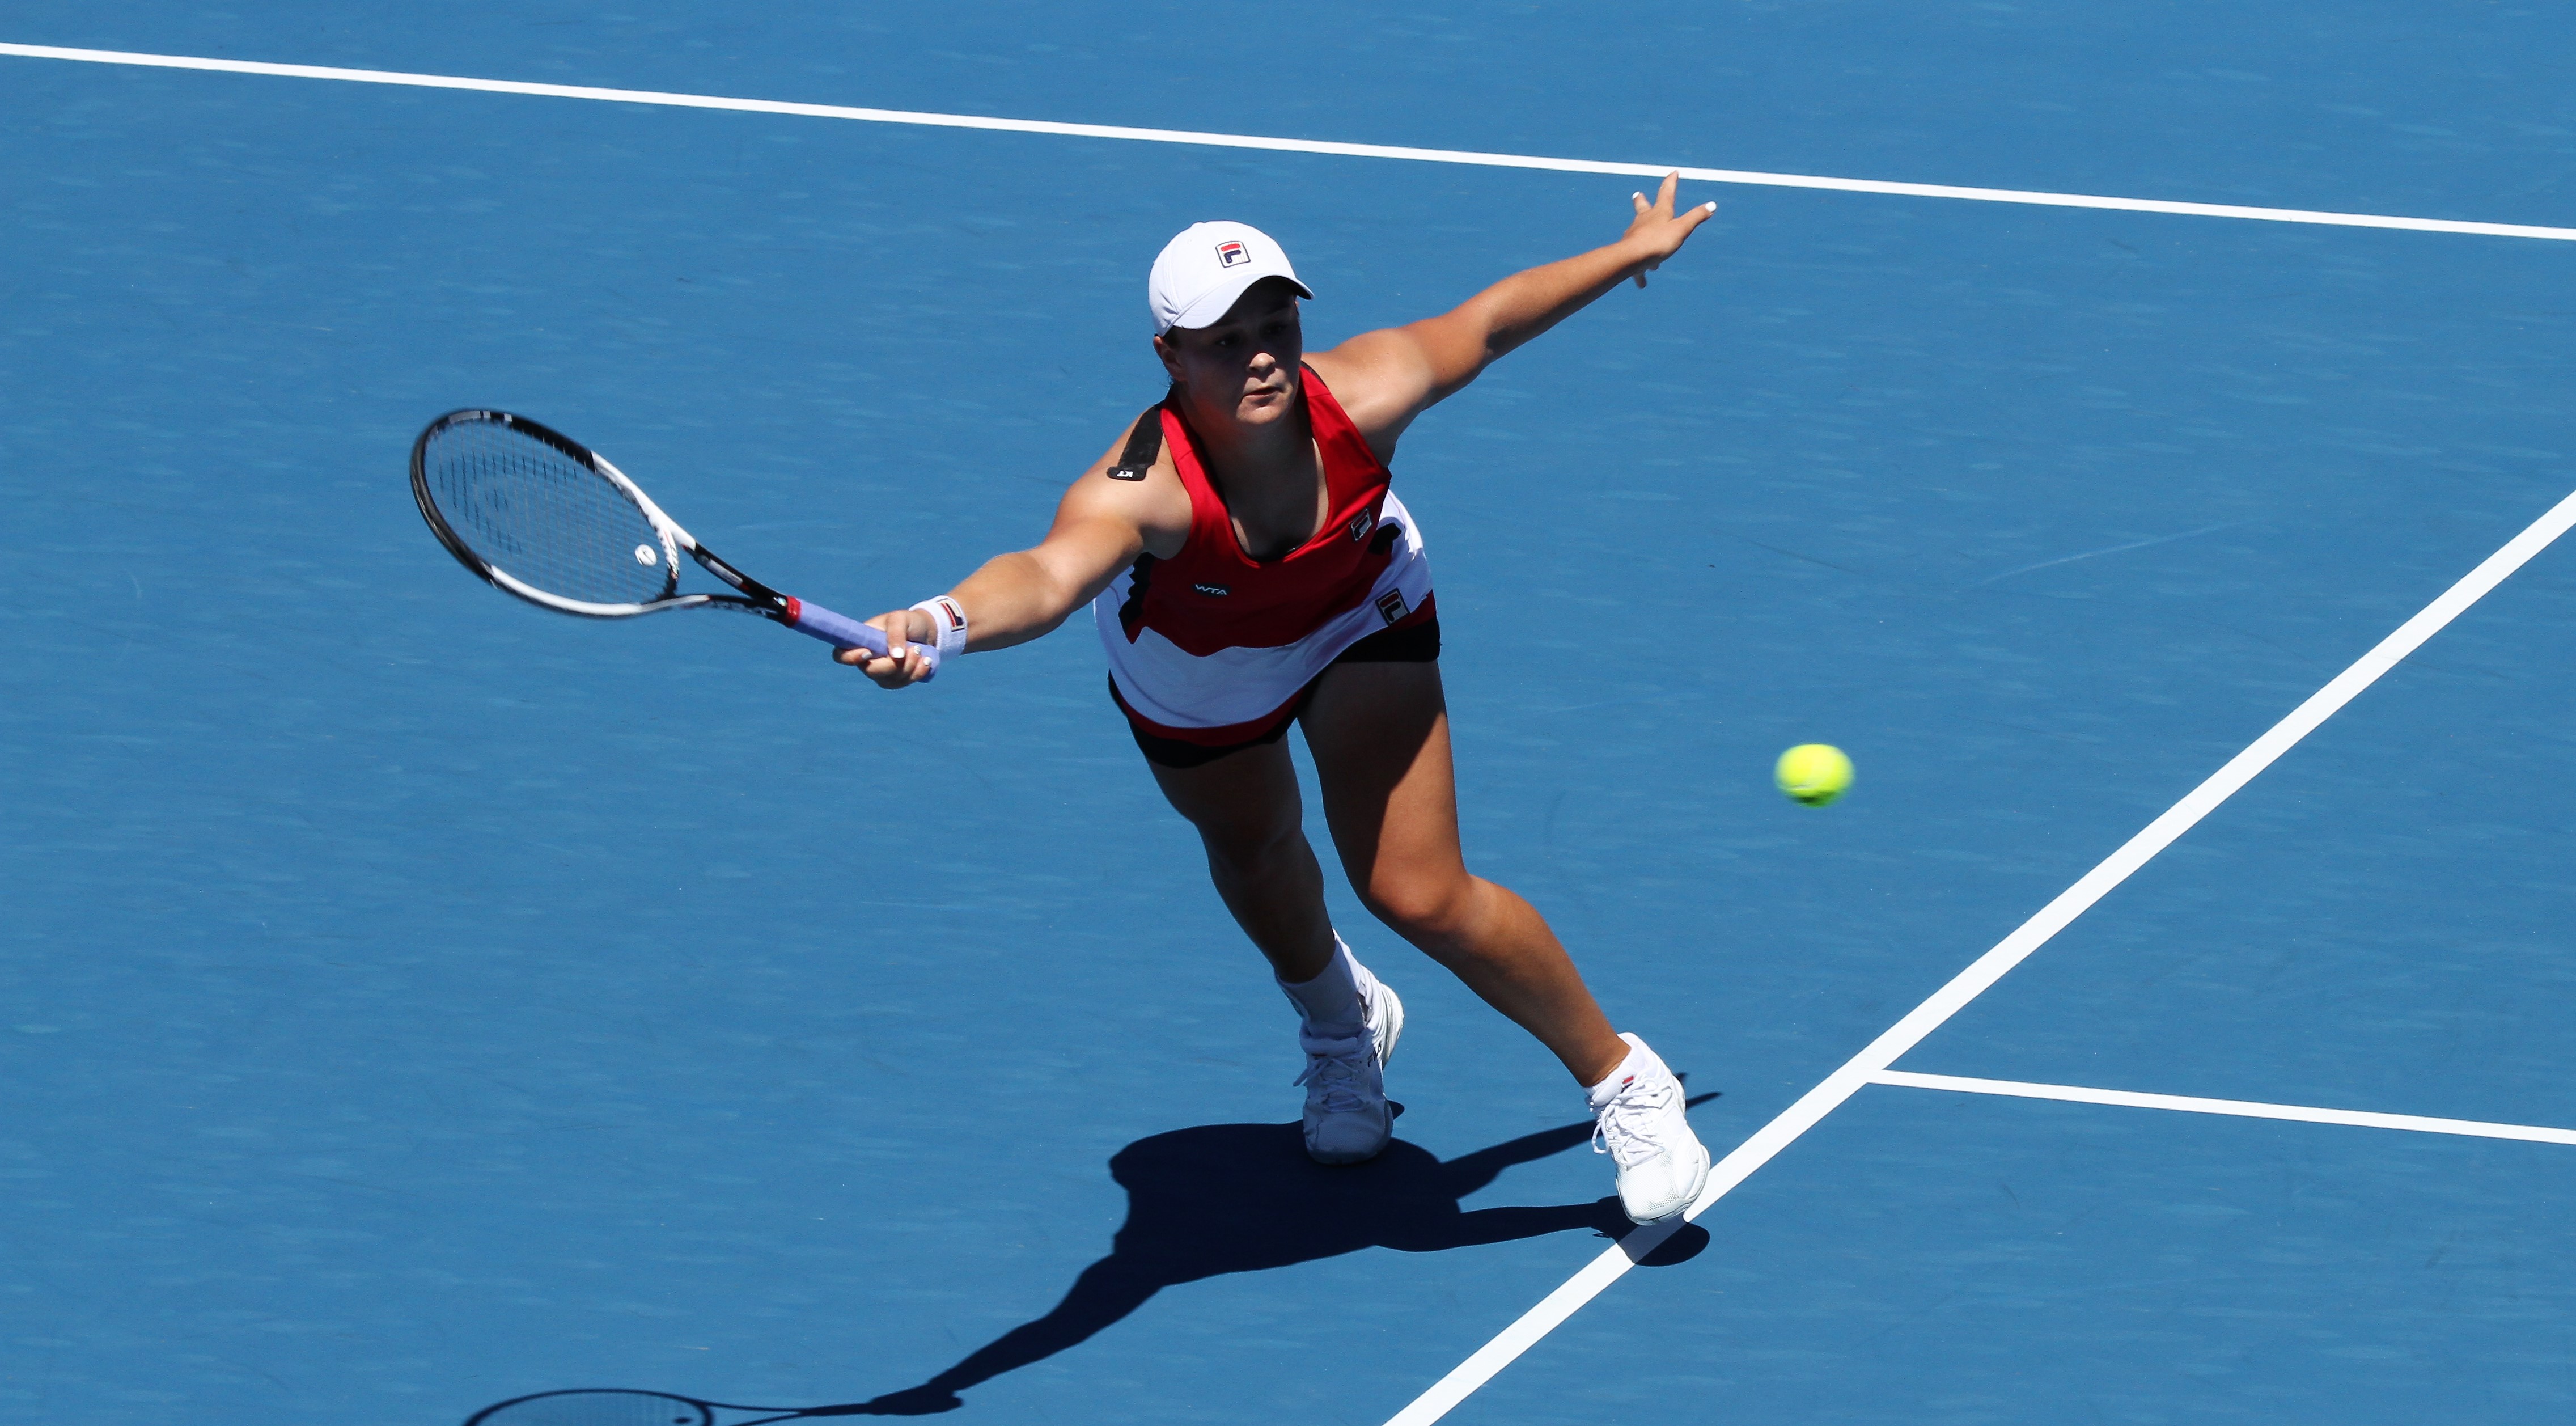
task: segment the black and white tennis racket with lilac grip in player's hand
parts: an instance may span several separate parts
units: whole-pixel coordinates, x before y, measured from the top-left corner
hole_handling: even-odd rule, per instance
[[[734,609],[832,647],[889,647],[881,629],[716,560],[626,472],[526,415],[451,410],[433,420],[412,441],[412,498],[459,565],[538,609],[585,619]],[[680,554],[737,593],[680,593]],[[927,660],[922,678],[938,673],[940,650],[912,647]]]

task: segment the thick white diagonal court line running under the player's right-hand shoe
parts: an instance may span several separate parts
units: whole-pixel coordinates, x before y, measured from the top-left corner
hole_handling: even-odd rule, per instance
[[[2295,748],[2300,737],[2316,732],[2321,722],[2360,696],[2362,689],[2378,683],[2380,676],[2396,668],[2401,658],[2411,655],[2424,645],[2424,640],[2442,632],[2442,627],[2458,619],[2470,603],[2486,598],[2486,593],[2504,583],[2506,575],[2548,549],[2550,542],[2566,534],[2571,523],[2576,523],[2576,495],[2550,505],[2545,516],[2532,521],[2514,539],[2504,542],[2504,549],[2488,554],[2476,570],[2442,591],[2442,596],[2427,603],[2414,619],[2398,624],[2398,629],[2380,640],[2378,647],[2352,660],[2352,668],[2336,673],[2334,681],[2311,694],[2308,701],[2290,709],[2290,717],[2275,722],[2272,730],[2246,745],[2244,753],[2228,758],[2228,763],[2210,774],[2208,781],[2187,792],[2182,802],[2174,802],[2161,817],[2148,823],[2146,830],[2128,838],[2120,851],[2105,856],[2102,864],[2087,872],[2076,884],[2058,892],[2058,900],[2043,905],[2038,915],[2014,928],[2012,936],[2004,936],[1991,952],[1976,957],[1968,970],[1950,977],[1950,982],[1935,990],[1929,1001],[1914,1006],[1906,1019],[1888,1026],[1888,1031],[1873,1039],[1868,1050],[1852,1055],[1852,1060],[1826,1075],[1824,1083],[1806,1091],[1798,1104],[1783,1109],[1777,1119],[1754,1129],[1749,1140],[1736,1145],[1734,1153],[1721,1158],[1716,1168],[1708,1171],[1708,1189],[1700,1191],[1700,1202],[1690,1204],[1690,1212],[1682,1217],[1700,1217],[1708,1212],[1708,1207],[1723,1199],[1728,1189],[1752,1178],[1752,1173],[1770,1163],[1772,1155],[1798,1142],[1798,1135],[1806,1135],[1826,1114],[1842,1109],[1842,1101],[1860,1093],[1860,1086],[1880,1080],[1888,1065],[1893,1065],[1906,1050],[1922,1044],[1927,1034],[1965,1008],[1968,1001],[1976,1001],[1989,985],[2002,980],[2004,972],[2030,959],[2032,952],[2045,946],[2050,936],[2110,895],[2110,890],[2125,882],[2138,866],[2146,866],[2159,851],[2174,846],[2174,838],[2192,830],[2192,825],[2208,817],[2221,802],[2233,797],[2239,786],[2254,781],[2254,774],[2269,768],[2275,758]],[[1538,1307],[1522,1313],[1517,1323],[1502,1328],[1494,1341],[1484,1343],[1473,1356],[1453,1367],[1448,1377],[1432,1382],[1432,1387],[1414,1398],[1412,1405],[1388,1416],[1386,1426],[1430,1426],[1432,1421],[1448,1416],[1453,1405],[1494,1380],[1494,1372],[1510,1367],[1512,1359],[1535,1346],[1538,1338],[1548,1336],[1558,1323],[1571,1318],[1577,1307],[1600,1297],[1605,1287],[1625,1276],[1633,1261],[1654,1251],[1654,1245],[1669,1233],[1672,1227],[1664,1227],[1651,1238],[1646,1233],[1631,1233],[1618,1245],[1602,1251]]]

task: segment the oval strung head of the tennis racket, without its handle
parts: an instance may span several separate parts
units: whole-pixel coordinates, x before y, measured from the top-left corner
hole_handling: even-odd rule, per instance
[[[644,511],[590,464],[495,420],[438,431],[430,498],[482,562],[582,603],[647,603],[675,572]]]

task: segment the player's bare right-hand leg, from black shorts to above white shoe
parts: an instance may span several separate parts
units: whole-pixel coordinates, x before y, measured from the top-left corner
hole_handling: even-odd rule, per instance
[[[1577,1083],[1628,1057],[1566,946],[1528,900],[1458,851],[1437,663],[1337,663],[1306,701],[1324,820],[1360,903],[1528,1029]]]

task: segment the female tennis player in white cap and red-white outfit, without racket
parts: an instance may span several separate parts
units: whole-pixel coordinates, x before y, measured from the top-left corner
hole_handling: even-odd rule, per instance
[[[1716,211],[1674,214],[1677,178],[1651,204],[1638,193],[1607,248],[1311,356],[1298,299],[1314,291],[1278,242],[1239,222],[1190,227],[1146,291],[1170,395],[1082,472],[1036,549],[871,619],[886,655],[837,655],[902,689],[927,673],[914,645],[999,650],[1092,606],[1110,699],[1298,1006],[1306,1153],[1324,1163],[1365,1160],[1394,1132],[1383,1068],[1404,1003],[1324,910],[1280,740],[1291,722],[1360,903],[1564,1060],[1628,1217],[1680,1215],[1708,1181],[1672,1070],[1610,1029],[1530,903],[1466,869],[1430,562],[1386,472],[1404,428],[1494,358],[1620,281],[1646,286]]]

